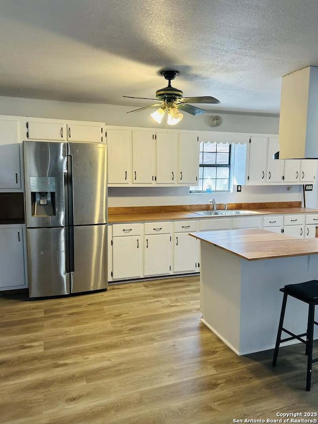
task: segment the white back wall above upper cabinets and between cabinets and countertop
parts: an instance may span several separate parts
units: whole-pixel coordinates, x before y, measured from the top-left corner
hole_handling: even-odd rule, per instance
[[[100,121],[109,125],[164,128],[164,123],[159,125],[153,121],[149,110],[126,113],[135,107],[0,96],[0,114],[2,115]],[[212,128],[210,125],[211,116],[215,114],[220,115],[223,120],[222,125],[218,128]],[[209,111],[197,117],[184,115],[184,119],[178,124],[178,129],[278,134],[279,118],[277,116],[221,113],[217,111],[217,108],[214,109],[214,112]],[[217,203],[298,201],[302,200],[302,191],[301,186],[292,186],[291,191],[287,191],[286,186],[243,186],[241,193],[189,194],[187,187],[111,187],[108,189],[108,196],[109,206],[114,207],[205,204],[212,197],[216,199]],[[308,201],[308,206],[312,203],[312,207],[317,207],[316,190],[310,197],[312,200]]]

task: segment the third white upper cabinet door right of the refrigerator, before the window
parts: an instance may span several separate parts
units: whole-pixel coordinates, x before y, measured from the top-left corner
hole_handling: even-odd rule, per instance
[[[177,181],[177,133],[157,133],[156,176],[159,184]]]

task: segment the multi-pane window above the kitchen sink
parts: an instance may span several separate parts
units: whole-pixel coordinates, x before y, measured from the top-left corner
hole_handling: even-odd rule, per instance
[[[231,145],[229,143],[200,143],[199,183],[190,192],[230,190]]]

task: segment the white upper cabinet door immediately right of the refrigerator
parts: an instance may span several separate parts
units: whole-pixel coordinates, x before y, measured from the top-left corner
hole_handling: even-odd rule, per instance
[[[130,183],[131,161],[131,131],[107,129],[108,183]]]

